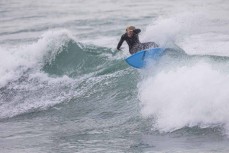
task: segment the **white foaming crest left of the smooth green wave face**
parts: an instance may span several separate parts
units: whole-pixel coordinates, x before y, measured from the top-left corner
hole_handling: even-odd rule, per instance
[[[39,71],[44,60],[47,60],[46,57],[49,56],[49,60],[55,58],[59,48],[70,38],[71,35],[66,30],[50,31],[33,44],[0,47],[0,87],[19,79],[28,69]]]

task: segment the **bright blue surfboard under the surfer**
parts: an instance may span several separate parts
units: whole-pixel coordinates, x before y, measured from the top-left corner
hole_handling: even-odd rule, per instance
[[[164,50],[164,48],[150,48],[142,50],[126,58],[125,61],[134,68],[144,68],[147,64],[147,60],[159,59]]]

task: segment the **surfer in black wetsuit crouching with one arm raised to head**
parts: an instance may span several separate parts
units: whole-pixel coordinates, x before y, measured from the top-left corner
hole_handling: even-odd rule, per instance
[[[140,50],[158,47],[155,42],[141,43],[138,38],[138,34],[140,32],[141,30],[136,29],[134,26],[127,27],[126,33],[121,36],[117,49],[120,50],[120,47],[124,41],[126,41],[129,46],[130,54],[134,54]]]

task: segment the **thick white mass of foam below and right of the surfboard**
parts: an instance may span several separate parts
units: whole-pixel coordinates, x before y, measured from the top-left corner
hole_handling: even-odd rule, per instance
[[[138,88],[142,115],[153,116],[153,126],[161,132],[186,126],[223,126],[229,131],[229,74],[209,63],[157,74],[147,71]]]

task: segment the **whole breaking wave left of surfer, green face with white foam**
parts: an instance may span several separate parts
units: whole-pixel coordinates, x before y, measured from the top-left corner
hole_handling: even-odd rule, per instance
[[[1,49],[0,118],[46,110],[93,92],[109,94],[105,84],[114,84],[112,79],[127,68],[111,49],[83,45],[66,30],[47,32],[31,45]]]

